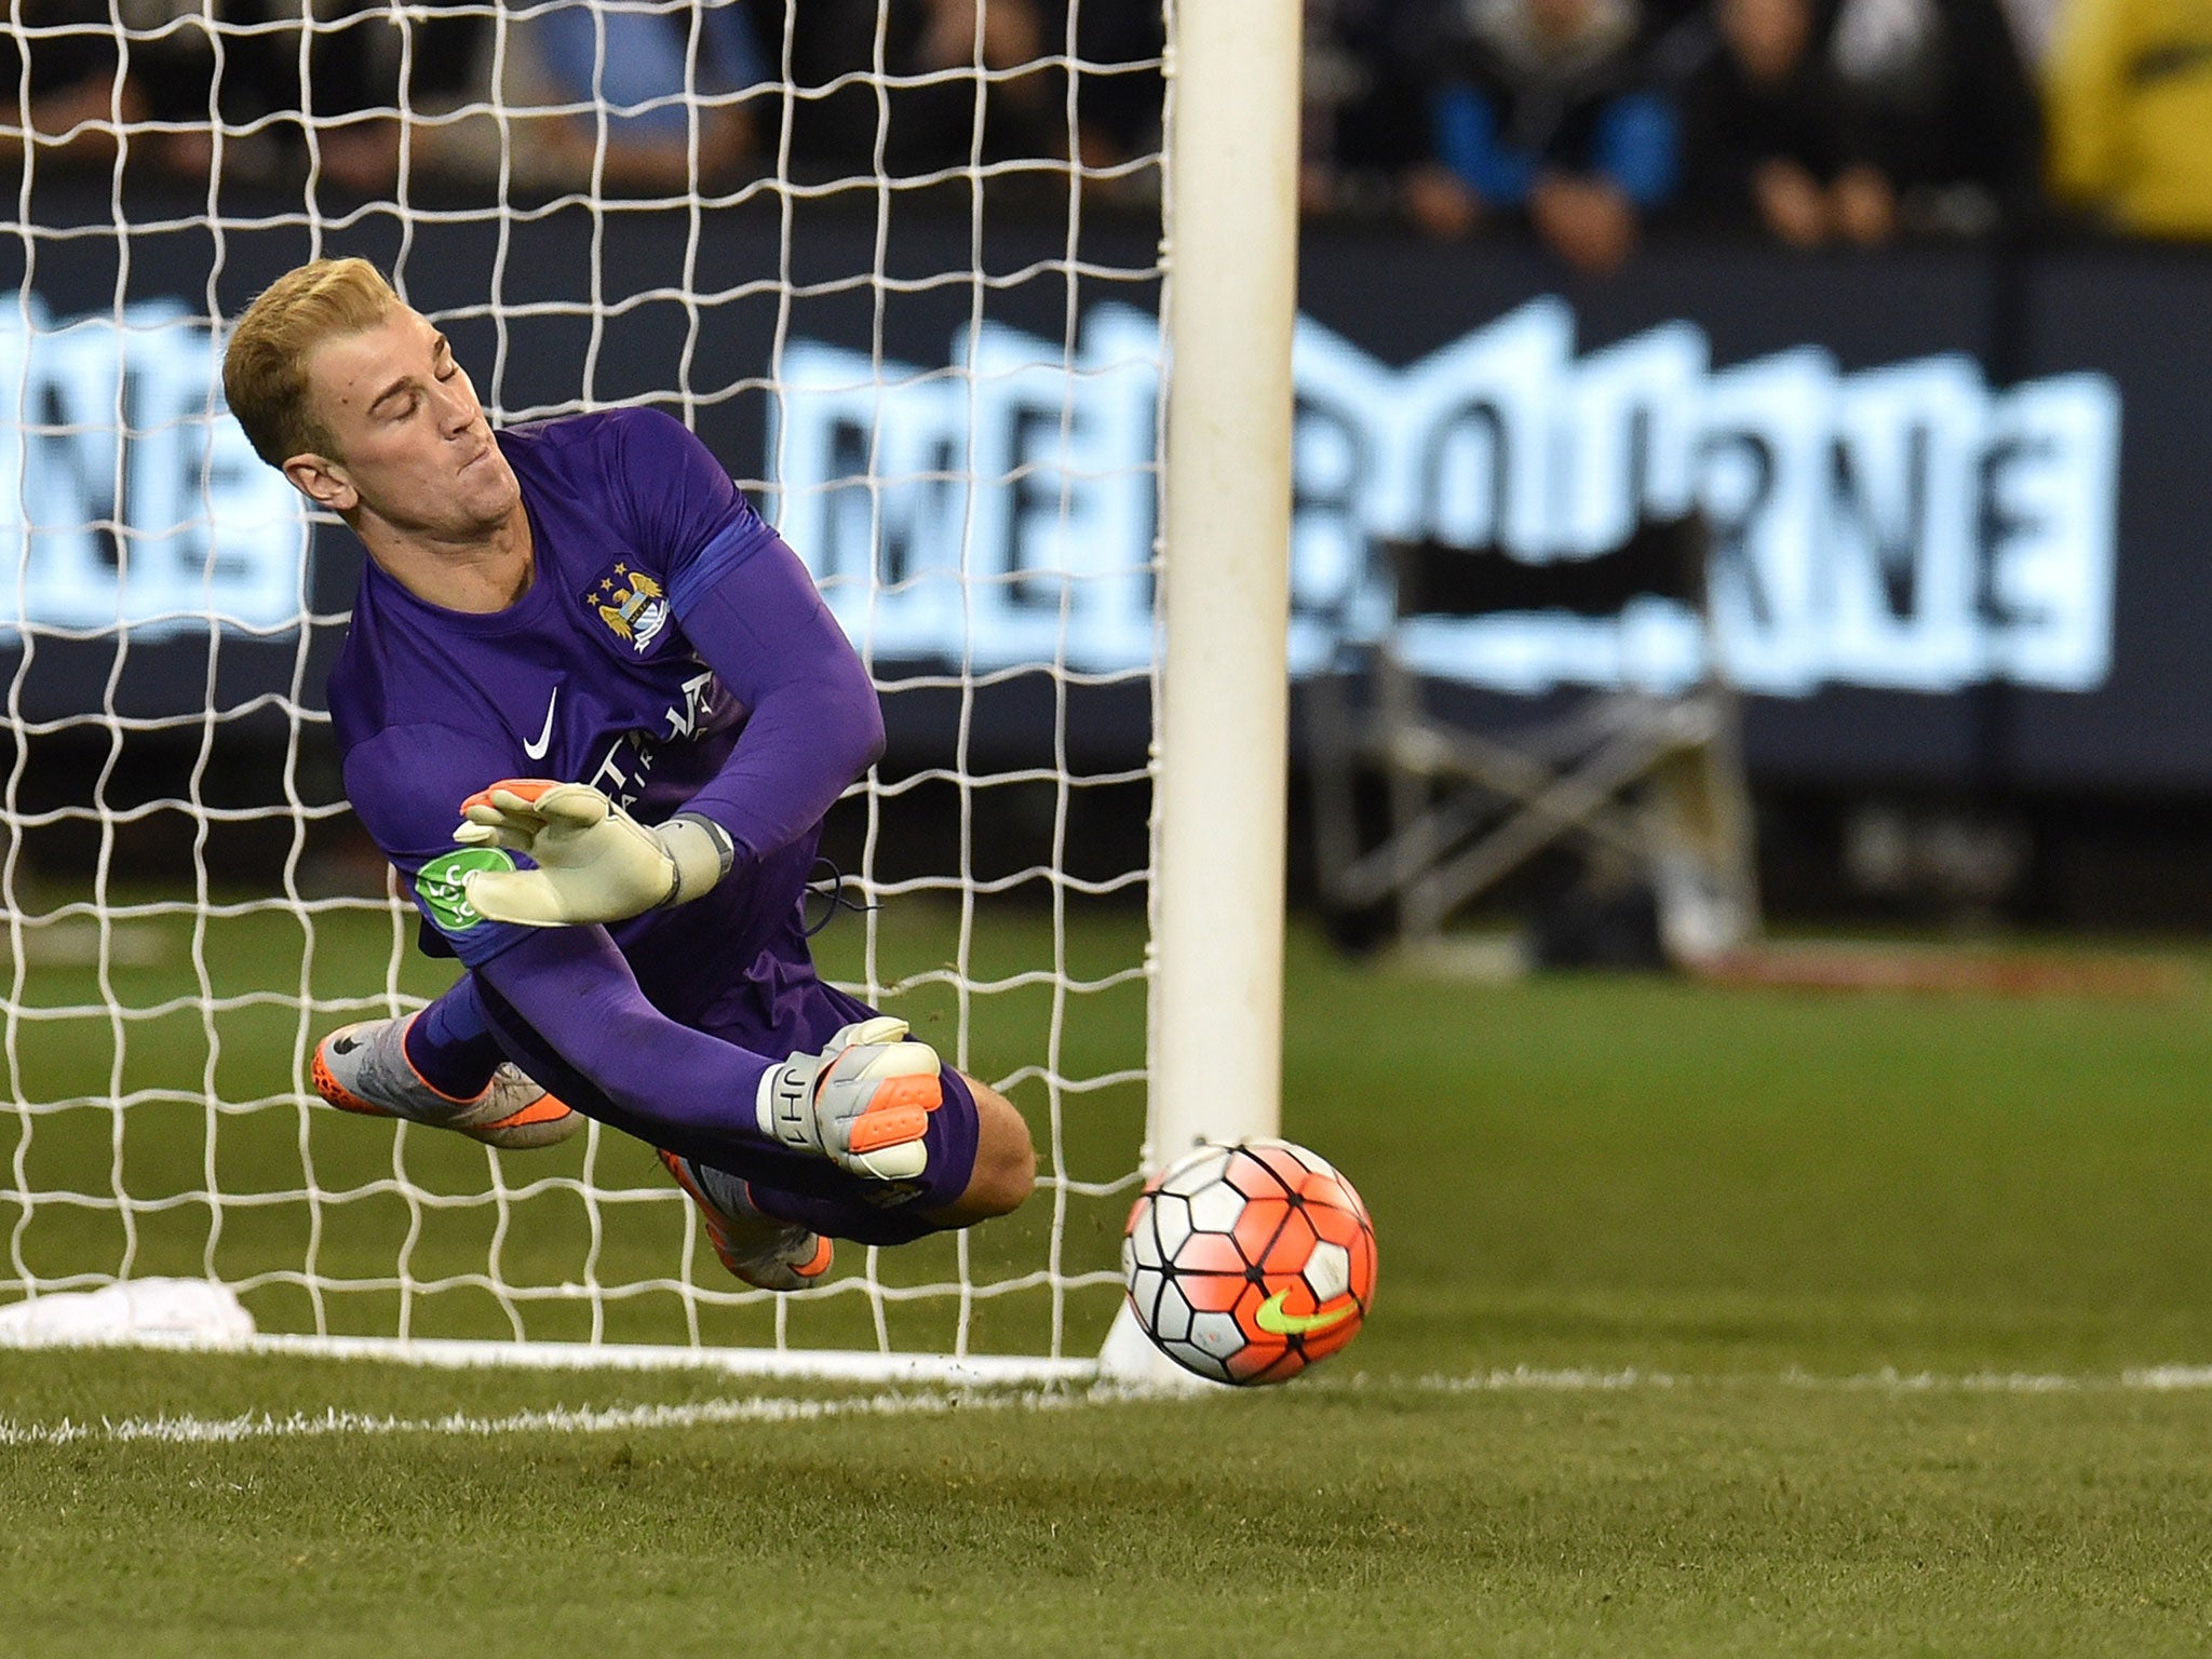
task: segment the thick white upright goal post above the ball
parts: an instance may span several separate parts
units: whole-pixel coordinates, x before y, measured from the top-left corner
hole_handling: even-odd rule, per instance
[[[1281,1117],[1298,265],[1298,0],[1175,13],[1155,1164]]]

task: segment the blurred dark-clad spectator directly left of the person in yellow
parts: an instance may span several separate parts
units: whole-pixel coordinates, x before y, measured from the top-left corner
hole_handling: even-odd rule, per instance
[[[1909,230],[1973,234],[2042,208],[2042,111],[2000,0],[1840,0],[1827,60]]]

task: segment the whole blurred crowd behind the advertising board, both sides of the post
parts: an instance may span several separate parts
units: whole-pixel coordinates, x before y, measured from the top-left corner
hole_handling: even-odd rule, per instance
[[[1157,190],[1150,0],[15,0],[0,146],[345,190],[1079,161]],[[1305,0],[1310,215],[1794,248],[2212,239],[2203,0]],[[307,22],[303,22],[303,15]],[[115,22],[124,29],[117,33]],[[210,27],[212,24],[212,27]]]

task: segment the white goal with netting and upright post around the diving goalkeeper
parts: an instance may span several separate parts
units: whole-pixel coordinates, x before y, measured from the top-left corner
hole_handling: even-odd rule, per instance
[[[0,115],[0,1347],[1164,1380],[1115,1312],[1121,1214],[1190,1144],[1279,1121],[1298,0],[1168,0],[1161,46],[1097,58],[1108,0],[980,0],[967,62],[878,0],[841,73],[807,69],[814,0],[754,0],[745,73],[732,4],[299,7],[58,13]],[[626,77],[639,18],[675,91]],[[418,102],[453,24],[473,80]],[[55,91],[40,64],[88,42],[97,84]],[[237,102],[272,51],[305,117]],[[385,104],[314,93],[376,64]],[[1086,100],[1148,77],[1157,146],[1102,144]],[[1060,106],[1006,153],[993,100],[1037,86]],[[947,95],[964,155],[902,170],[894,111]],[[843,175],[803,144],[832,106],[876,122]],[[489,195],[451,184],[471,168]],[[967,206],[916,230],[918,192]],[[226,319],[338,252],[456,336],[495,418],[670,407],[810,560],[894,757],[911,737],[843,810],[867,909],[825,971],[1024,1108],[1020,1217],[774,1298],[597,1126],[489,1155],[314,1102],[323,1031],[451,973],[345,830],[319,686],[343,538],[219,400]],[[1148,754],[1086,728],[1115,697]],[[993,726],[1040,706],[1044,739]],[[1130,792],[1144,860],[1077,856],[1071,825]],[[144,1314],[210,1287],[232,1323]]]

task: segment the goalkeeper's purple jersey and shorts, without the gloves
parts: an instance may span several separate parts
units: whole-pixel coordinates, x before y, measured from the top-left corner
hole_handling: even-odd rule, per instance
[[[425,604],[374,562],[330,675],[345,794],[469,975],[440,1006],[562,1099],[752,1183],[765,1214],[867,1243],[938,1223],[967,1188],[978,1108],[945,1068],[918,1181],[783,1146],[761,1079],[874,1011],[823,984],[799,905],[821,816],[883,748],[876,688],[799,557],[668,416],[498,434],[535,568],[504,611]],[[513,776],[591,783],[644,823],[719,823],[732,869],[611,927],[478,916],[460,803]],[[489,1064],[489,1062],[482,1062]],[[909,1206],[909,1208],[902,1208]]]

